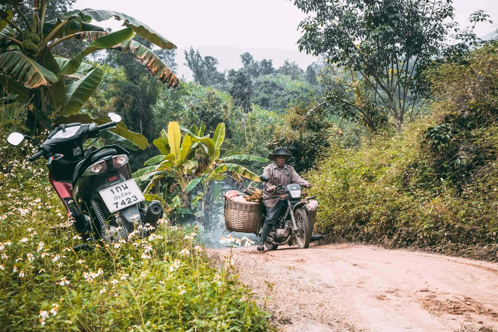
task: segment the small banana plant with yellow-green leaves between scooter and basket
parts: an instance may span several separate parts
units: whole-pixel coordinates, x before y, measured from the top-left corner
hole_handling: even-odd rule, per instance
[[[180,130],[185,132],[181,144]],[[216,201],[221,192],[220,181],[227,176],[232,176],[237,180],[245,177],[252,181],[260,181],[259,177],[249,169],[227,161],[236,159],[268,162],[268,159],[243,153],[230,153],[222,157],[220,148],[225,140],[225,123],[218,124],[213,138],[204,135],[204,130],[204,124],[200,127],[192,125],[187,129],[177,122],[169,122],[168,131],[162,130],[161,137],[154,140],[154,145],[162,154],[147,160],[146,167],[133,174],[135,179],[149,181],[143,191],[145,195],[149,193],[157,180],[166,177],[166,174],[173,173],[181,189],[184,208],[188,204],[188,193],[197,185],[202,186],[203,192],[194,200],[202,198],[201,212],[203,213],[207,193],[210,192],[212,199]],[[201,152],[198,158],[201,159],[200,163],[196,159],[196,152]]]

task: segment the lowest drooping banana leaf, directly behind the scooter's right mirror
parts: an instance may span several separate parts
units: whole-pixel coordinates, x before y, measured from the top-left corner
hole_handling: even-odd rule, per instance
[[[59,116],[57,119],[55,119],[55,122],[58,124],[65,124],[65,123],[73,123],[73,122],[79,122],[79,123],[96,123],[98,125],[104,124],[104,123],[109,123],[111,122],[111,119],[108,117],[101,117],[101,118],[91,118],[88,114],[75,114],[71,116]],[[123,139],[126,139],[138,146],[139,149],[145,149],[149,146],[149,142],[147,139],[140,133],[130,131],[127,127],[126,124],[123,122],[120,122],[116,125],[116,128],[108,129],[109,131],[113,132],[116,135],[119,135]],[[104,131],[101,131],[101,134]],[[130,149],[132,147],[126,146]]]

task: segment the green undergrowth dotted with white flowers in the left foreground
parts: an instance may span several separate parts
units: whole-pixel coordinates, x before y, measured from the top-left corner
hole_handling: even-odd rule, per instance
[[[1,129],[1,126],[0,126]],[[47,181],[0,133],[1,331],[270,331],[231,259],[214,267],[196,229],[162,220],[144,239],[81,243]],[[27,143],[22,153],[32,148]]]

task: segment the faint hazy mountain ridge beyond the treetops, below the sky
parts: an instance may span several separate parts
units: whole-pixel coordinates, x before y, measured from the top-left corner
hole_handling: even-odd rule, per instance
[[[177,49],[176,55],[176,63],[178,64],[177,75],[181,77],[184,76],[184,80],[192,80],[192,72],[187,66],[184,66],[185,62],[185,54],[184,51],[188,51],[189,47],[180,47]],[[228,71],[230,69],[239,69],[242,67],[242,62],[240,59],[240,55],[249,52],[254,60],[261,61],[262,59],[273,60],[273,67],[277,69],[280,67],[285,60],[289,60],[290,62],[295,61],[296,64],[301,67],[303,70],[306,70],[309,64],[314,61],[317,61],[318,58],[306,54],[304,52],[299,52],[297,49],[295,50],[286,50],[280,48],[242,48],[242,47],[234,47],[234,46],[194,46],[194,50],[199,50],[199,53],[202,57],[207,55],[215,57],[218,59],[219,65],[218,70]]]

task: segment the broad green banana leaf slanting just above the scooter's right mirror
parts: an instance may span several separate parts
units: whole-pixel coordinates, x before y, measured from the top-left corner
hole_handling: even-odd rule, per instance
[[[104,71],[95,68],[81,80],[67,85],[64,105],[58,110],[59,114],[65,116],[77,114],[99,87],[103,78]]]

